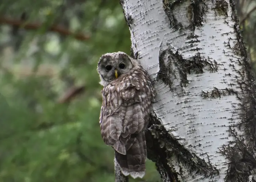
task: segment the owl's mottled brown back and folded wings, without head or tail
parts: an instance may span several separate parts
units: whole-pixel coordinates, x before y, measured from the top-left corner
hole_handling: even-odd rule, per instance
[[[132,134],[146,128],[154,89],[144,70],[133,70],[106,85],[100,123],[103,141],[126,154],[136,140]],[[121,137],[120,137],[121,136]]]

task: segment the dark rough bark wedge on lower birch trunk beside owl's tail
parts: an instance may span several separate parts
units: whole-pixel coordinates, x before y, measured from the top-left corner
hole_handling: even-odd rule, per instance
[[[175,139],[154,115],[151,115],[148,127],[146,135],[148,159],[156,163],[164,182],[180,182],[177,176],[183,176],[183,171],[172,172],[175,166],[172,166],[168,160],[173,157],[178,163],[186,166],[190,173],[201,174],[205,178],[214,178],[219,175],[215,166],[209,161],[200,159],[180,144],[179,140]]]

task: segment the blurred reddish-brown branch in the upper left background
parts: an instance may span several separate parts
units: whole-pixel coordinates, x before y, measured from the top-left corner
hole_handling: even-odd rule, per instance
[[[36,30],[42,27],[42,23],[27,23],[26,21],[23,21],[23,20],[15,20],[7,17],[0,17],[0,24],[20,26],[27,30]],[[70,30],[66,30],[65,27],[57,26],[57,25],[53,25],[49,27],[48,31],[57,32],[64,36],[74,36],[75,39],[81,40],[81,41],[88,40],[90,38],[89,36],[86,36],[82,33],[74,33],[74,32],[71,32]]]

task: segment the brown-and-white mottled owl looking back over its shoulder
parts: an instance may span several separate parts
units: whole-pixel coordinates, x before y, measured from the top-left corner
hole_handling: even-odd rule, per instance
[[[121,172],[143,178],[147,158],[145,129],[155,90],[139,62],[124,52],[102,55],[97,71],[103,85],[101,136],[115,150]]]

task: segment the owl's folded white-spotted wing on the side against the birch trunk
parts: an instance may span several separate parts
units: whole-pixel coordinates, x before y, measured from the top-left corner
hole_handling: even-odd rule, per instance
[[[129,134],[138,133],[146,127],[152,94],[144,77],[142,73],[135,72],[120,83],[120,96],[124,106],[124,134],[127,130]],[[125,136],[124,134],[122,136]]]

